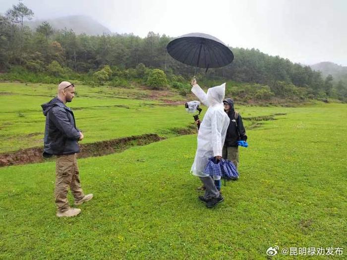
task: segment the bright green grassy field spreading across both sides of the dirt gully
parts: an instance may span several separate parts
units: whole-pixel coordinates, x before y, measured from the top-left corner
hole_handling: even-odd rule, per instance
[[[5,92],[5,84],[0,86]],[[15,86],[18,89],[11,91],[25,88]],[[2,151],[9,151],[5,146],[19,147],[21,143],[11,138],[24,130],[43,131],[37,104],[47,101],[51,92],[30,98],[32,102],[21,97],[19,106],[13,104],[18,103],[16,95],[0,96]],[[101,99],[105,105],[153,104],[138,107],[140,114],[133,119],[146,129],[132,127],[134,122],[125,116],[136,116],[131,114],[134,109],[90,109]],[[181,106],[154,103],[81,97],[71,106],[88,107],[76,110],[86,142],[136,131],[165,132],[191,120]],[[82,188],[94,193],[94,199],[71,219],[55,216],[54,162],[0,168],[0,259],[253,260],[269,259],[266,250],[274,246],[340,247],[344,254],[336,258],[346,259],[347,105],[238,110],[244,117],[286,114],[247,131],[249,148],[240,148],[240,179],[222,187],[225,201],[213,209],[197,199],[200,183],[189,174],[196,135],[79,159]],[[25,116],[15,117],[18,111]],[[30,124],[35,118],[41,121]],[[103,130],[107,134],[101,134]],[[279,252],[271,259],[294,257]]]

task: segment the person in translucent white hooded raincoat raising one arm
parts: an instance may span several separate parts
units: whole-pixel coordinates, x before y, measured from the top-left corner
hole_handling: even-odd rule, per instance
[[[205,195],[199,196],[199,199],[206,202],[206,206],[210,208],[224,200],[214,182],[214,180],[220,180],[221,177],[211,177],[204,173],[204,169],[210,156],[217,159],[222,158],[222,149],[230,122],[223,105],[226,84],[209,88],[207,94],[195,79],[191,85],[191,91],[208,107],[198,132],[198,147],[191,172],[198,176],[206,187]]]

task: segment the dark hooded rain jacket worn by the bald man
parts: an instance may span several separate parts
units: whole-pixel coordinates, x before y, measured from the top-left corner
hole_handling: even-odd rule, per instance
[[[72,110],[57,97],[41,106],[46,116],[43,156],[79,153],[80,134]]]

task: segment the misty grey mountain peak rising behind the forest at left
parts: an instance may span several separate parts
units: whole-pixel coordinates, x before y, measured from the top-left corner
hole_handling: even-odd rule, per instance
[[[98,21],[94,20],[89,16],[84,15],[74,15],[74,16],[65,16],[58,17],[54,19],[45,19],[45,20],[32,20],[26,21],[25,25],[29,26],[32,30],[35,30],[44,21],[47,21],[51,24],[53,29],[62,30],[72,29],[76,34],[85,33],[87,35],[102,35],[104,33],[111,34],[111,31],[100,24]]]

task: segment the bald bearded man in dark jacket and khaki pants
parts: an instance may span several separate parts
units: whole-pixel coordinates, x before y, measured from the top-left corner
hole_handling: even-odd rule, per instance
[[[63,81],[58,85],[58,97],[42,104],[46,116],[44,157],[56,156],[55,198],[58,217],[72,217],[81,212],[70,208],[67,191],[70,187],[75,206],[90,201],[93,194],[84,195],[79,181],[76,154],[79,153],[78,141],[83,139],[82,132],[76,127],[72,110],[65,104],[75,97],[75,86]]]

